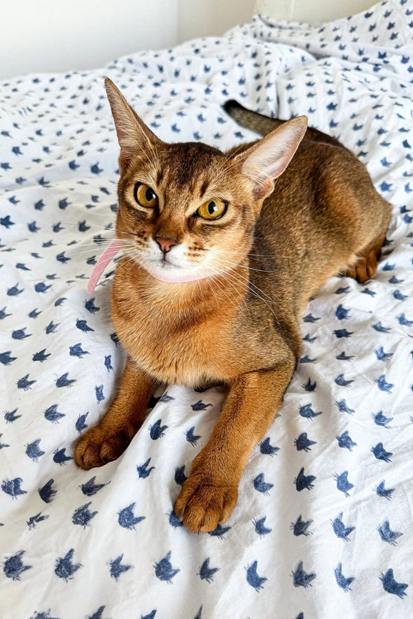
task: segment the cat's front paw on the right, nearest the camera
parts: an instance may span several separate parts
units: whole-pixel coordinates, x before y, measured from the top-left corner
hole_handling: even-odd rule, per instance
[[[229,519],[237,498],[237,486],[215,484],[200,474],[189,475],[174,510],[190,531],[213,531]]]

